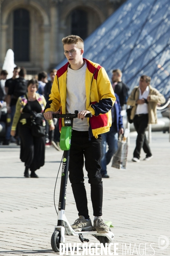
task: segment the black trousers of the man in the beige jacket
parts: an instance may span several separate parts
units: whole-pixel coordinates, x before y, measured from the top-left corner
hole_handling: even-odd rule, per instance
[[[140,158],[141,148],[143,148],[144,153],[146,153],[146,157],[151,157],[152,153],[150,151],[150,147],[146,138],[146,128],[148,125],[148,115],[144,114],[142,116],[136,115],[133,119],[134,127],[138,133],[136,139],[136,148],[133,152],[133,157]]]

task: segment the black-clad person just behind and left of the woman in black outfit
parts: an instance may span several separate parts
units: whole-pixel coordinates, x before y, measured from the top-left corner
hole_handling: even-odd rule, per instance
[[[3,145],[9,145],[11,137],[11,126],[15,114],[17,100],[20,96],[24,95],[27,91],[27,81],[24,78],[26,76],[26,69],[22,67],[18,73],[19,77],[14,80],[8,87],[8,95],[6,97],[6,105],[8,113],[11,114],[11,124],[6,129],[6,139]]]

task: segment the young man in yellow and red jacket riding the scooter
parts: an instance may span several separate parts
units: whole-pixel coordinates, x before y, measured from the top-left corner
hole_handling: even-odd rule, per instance
[[[44,116],[47,120],[53,119],[52,115],[59,113],[59,108],[62,114],[79,110],[78,118],[73,122],[69,162],[69,179],[79,218],[71,227],[75,231],[107,233],[109,227],[102,219],[101,134],[110,130],[111,108],[116,98],[105,69],[83,58],[82,38],[70,35],[62,39],[62,44],[68,62],[57,70]],[[93,116],[85,118],[87,113]],[[64,120],[60,119],[61,126],[64,126]],[[93,226],[88,215],[84,157],[88,183],[91,184]]]

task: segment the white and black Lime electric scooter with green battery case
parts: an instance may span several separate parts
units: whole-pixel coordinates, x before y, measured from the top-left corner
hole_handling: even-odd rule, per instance
[[[69,155],[70,155],[70,145],[71,145],[71,132],[73,127],[73,119],[77,118],[79,111],[74,111],[74,114],[53,114],[53,118],[64,118],[65,126],[61,129],[60,135],[60,148],[64,150],[63,160],[62,160],[62,175],[61,175],[61,185],[59,193],[59,206],[58,206],[58,219],[57,226],[54,228],[54,233],[51,236],[51,247],[54,252],[59,252],[59,244],[65,243],[65,235],[67,236],[78,236],[80,241],[88,242],[83,236],[91,235],[99,240],[100,243],[111,243],[114,238],[114,234],[111,229],[108,233],[97,233],[97,231],[74,231],[69,224],[65,216],[65,200],[67,192],[67,180],[68,180],[68,166],[69,166]],[[92,114],[87,114],[85,117],[92,117]]]

